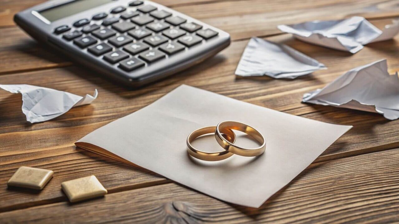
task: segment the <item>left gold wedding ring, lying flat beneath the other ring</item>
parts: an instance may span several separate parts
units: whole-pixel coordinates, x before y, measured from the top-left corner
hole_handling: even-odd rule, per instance
[[[209,126],[205,128],[199,128],[195,130],[194,132],[191,132],[190,135],[187,137],[187,152],[193,157],[196,157],[197,159],[201,160],[206,160],[206,161],[218,161],[222,159],[227,159],[228,157],[232,156],[233,153],[223,150],[223,151],[217,151],[217,152],[205,152],[205,151],[200,151],[196,148],[194,148],[191,145],[191,142],[198,138],[199,136],[202,136],[204,134],[209,134],[209,133],[215,133],[216,126]],[[220,135],[222,138],[229,142],[229,143],[234,143],[235,142],[235,134],[231,129],[223,129],[220,128]],[[223,137],[224,136],[224,137]]]

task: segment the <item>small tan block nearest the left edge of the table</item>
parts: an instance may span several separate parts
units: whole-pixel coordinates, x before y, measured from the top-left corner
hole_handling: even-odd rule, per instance
[[[53,171],[33,167],[20,167],[8,180],[8,186],[41,190],[53,177]]]

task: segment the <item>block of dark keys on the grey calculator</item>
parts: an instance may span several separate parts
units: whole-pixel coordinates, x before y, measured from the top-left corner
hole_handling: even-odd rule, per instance
[[[109,11],[110,16],[107,12],[95,14],[93,22],[78,20],[72,24],[76,29],[62,37],[66,41],[73,40],[82,49],[87,47],[93,57],[101,57],[111,64],[118,63],[120,69],[130,72],[146,66],[146,63],[174,57],[186,49],[190,51],[190,47],[218,35],[218,32],[202,29],[200,24],[174,16],[168,10],[142,4],[136,0],[129,3],[129,6],[138,6],[136,10],[118,6]],[[56,28],[54,33],[70,29],[64,25]],[[101,40],[100,43],[95,37]]]

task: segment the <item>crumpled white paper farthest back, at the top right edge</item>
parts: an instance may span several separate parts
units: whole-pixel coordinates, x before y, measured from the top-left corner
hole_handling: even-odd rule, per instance
[[[354,16],[345,20],[315,20],[277,26],[281,31],[316,45],[356,53],[367,43],[392,39],[399,33],[399,20],[380,30],[365,18]]]

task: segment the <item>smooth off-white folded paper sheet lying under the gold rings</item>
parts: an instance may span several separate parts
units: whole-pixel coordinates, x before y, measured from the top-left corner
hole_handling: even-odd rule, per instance
[[[266,138],[265,153],[258,157],[233,155],[213,162],[190,157],[186,151],[188,134],[224,120],[244,122],[259,130]],[[259,207],[351,127],[301,118],[182,85],[75,144],[103,155],[106,151],[101,148],[106,149],[215,198]],[[215,137],[208,137],[209,147],[198,146],[196,141],[194,147],[220,151]],[[236,143],[254,147],[253,141],[242,136]]]

